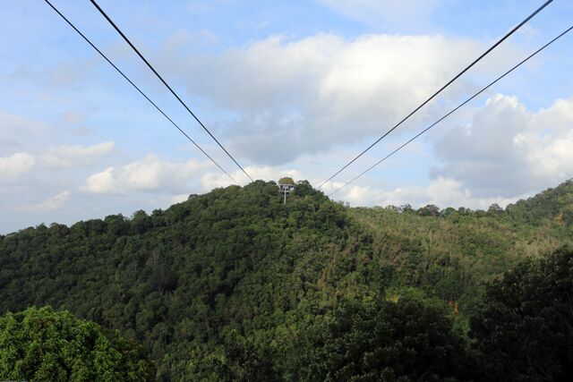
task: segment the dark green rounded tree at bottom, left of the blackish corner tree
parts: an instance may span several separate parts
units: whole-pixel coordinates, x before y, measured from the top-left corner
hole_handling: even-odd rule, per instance
[[[442,307],[415,298],[344,301],[311,350],[309,380],[448,380],[464,341]],[[451,380],[451,379],[450,379]]]

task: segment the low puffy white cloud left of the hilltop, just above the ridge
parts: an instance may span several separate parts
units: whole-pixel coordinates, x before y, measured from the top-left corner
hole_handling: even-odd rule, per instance
[[[210,163],[191,159],[184,163],[161,161],[155,155],[125,166],[108,167],[92,174],[81,191],[99,194],[124,194],[137,191],[184,191]]]

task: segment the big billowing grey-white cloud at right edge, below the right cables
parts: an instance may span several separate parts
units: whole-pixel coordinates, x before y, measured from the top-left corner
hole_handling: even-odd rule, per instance
[[[456,179],[475,195],[543,190],[573,176],[573,98],[535,113],[497,95],[434,149],[442,165],[432,174]]]

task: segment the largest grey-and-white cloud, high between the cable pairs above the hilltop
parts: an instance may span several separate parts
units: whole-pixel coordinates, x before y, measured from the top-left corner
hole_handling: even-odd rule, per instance
[[[218,126],[225,128],[233,152],[257,164],[278,165],[385,132],[482,50],[470,38],[320,34],[272,37],[177,59],[166,51],[158,60],[192,95],[234,112]],[[500,52],[475,69],[489,72],[495,64],[499,71],[515,53]],[[440,99],[457,98],[468,86],[464,77]],[[415,118],[434,112],[432,107],[438,106]]]

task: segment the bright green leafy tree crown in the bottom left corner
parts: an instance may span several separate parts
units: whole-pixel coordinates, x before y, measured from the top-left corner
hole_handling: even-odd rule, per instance
[[[0,318],[0,379],[151,380],[141,347],[50,307]]]

